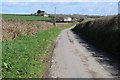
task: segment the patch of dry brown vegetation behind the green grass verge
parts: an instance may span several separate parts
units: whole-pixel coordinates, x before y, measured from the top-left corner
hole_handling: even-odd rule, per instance
[[[32,35],[39,30],[54,27],[52,23],[43,21],[13,21],[2,20],[3,39],[11,40],[18,35]]]

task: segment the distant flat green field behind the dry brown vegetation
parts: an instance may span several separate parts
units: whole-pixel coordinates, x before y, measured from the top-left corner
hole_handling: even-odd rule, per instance
[[[29,21],[48,21],[52,18],[44,16],[24,16],[15,14],[1,14],[3,20],[29,20]]]

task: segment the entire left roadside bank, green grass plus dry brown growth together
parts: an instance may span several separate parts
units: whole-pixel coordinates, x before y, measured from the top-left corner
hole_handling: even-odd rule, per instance
[[[2,20],[3,78],[40,78],[50,47],[59,32],[71,26],[43,21]]]

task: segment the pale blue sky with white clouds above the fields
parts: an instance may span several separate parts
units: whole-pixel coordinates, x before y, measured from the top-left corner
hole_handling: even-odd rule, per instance
[[[30,14],[35,13],[38,9],[40,9],[51,14],[54,13],[54,7],[56,7],[58,14],[118,14],[118,0],[74,0],[74,2],[72,1],[73,0],[2,0],[2,4],[0,4],[2,10],[0,11],[0,13]]]

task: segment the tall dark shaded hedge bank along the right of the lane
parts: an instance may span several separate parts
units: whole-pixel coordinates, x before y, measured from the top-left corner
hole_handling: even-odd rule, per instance
[[[96,47],[120,56],[120,21],[116,16],[95,18],[79,23],[73,31],[83,35]]]

